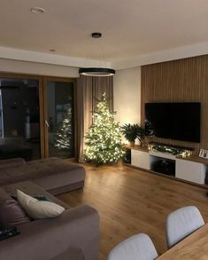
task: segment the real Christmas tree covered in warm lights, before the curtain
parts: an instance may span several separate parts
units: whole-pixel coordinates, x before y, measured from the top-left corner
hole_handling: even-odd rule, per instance
[[[108,108],[105,93],[97,101],[93,113],[93,123],[85,137],[85,159],[87,162],[104,164],[118,162],[122,151],[119,122],[114,121],[114,112]]]

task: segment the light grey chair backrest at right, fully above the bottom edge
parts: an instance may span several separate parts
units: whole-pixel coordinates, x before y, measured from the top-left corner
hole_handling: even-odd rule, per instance
[[[188,206],[173,211],[166,218],[167,248],[172,248],[173,245],[203,225],[204,219],[195,206]]]

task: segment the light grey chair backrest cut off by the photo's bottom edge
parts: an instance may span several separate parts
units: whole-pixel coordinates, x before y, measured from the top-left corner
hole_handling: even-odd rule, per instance
[[[108,260],[153,260],[157,257],[158,253],[150,237],[139,233],[113,248]]]

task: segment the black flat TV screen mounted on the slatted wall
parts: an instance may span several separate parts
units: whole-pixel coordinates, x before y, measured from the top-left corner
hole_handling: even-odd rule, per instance
[[[171,138],[200,143],[201,104],[146,103],[145,133],[158,138]]]

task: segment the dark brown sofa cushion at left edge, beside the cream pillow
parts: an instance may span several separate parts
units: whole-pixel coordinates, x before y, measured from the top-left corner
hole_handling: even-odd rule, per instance
[[[18,201],[0,189],[0,226],[21,225],[27,222],[30,222],[30,218],[21,209]]]

